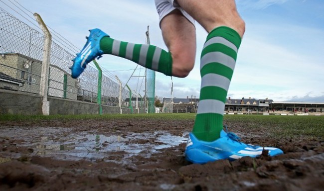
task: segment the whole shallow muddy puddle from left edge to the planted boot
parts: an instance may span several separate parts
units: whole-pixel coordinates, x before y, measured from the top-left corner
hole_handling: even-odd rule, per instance
[[[113,152],[124,152],[124,160],[134,155],[151,157],[161,149],[185,143],[188,135],[175,136],[166,131],[103,135],[94,131],[71,133],[59,127],[15,127],[10,131],[0,130],[0,134],[9,139],[24,140],[17,146],[30,147],[35,155],[69,160],[88,158],[92,161]],[[33,136],[29,137],[31,134]]]

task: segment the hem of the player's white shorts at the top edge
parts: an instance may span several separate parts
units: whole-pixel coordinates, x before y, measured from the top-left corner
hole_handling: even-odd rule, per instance
[[[155,0],[155,5],[159,13],[160,23],[162,18],[169,14],[174,9],[179,9],[180,12],[186,17],[193,25],[195,25],[194,19],[186,11],[184,11],[174,0]]]

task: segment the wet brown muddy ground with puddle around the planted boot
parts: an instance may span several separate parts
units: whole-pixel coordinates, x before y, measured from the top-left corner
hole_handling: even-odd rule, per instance
[[[269,138],[230,123],[246,143],[277,157],[204,165],[184,160],[193,120],[0,122],[0,190],[323,191],[324,141]]]

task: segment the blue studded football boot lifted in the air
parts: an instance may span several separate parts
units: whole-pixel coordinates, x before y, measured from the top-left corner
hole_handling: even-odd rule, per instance
[[[73,65],[70,67],[72,78],[78,78],[89,62],[96,58],[101,58],[104,54],[104,52],[100,50],[100,40],[104,36],[109,37],[109,35],[98,28],[89,31],[90,35],[86,37],[87,43],[82,48],[81,52],[76,54],[76,57],[72,60]]]

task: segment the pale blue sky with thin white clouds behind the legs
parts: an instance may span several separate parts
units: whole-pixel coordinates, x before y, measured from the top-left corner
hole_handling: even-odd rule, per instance
[[[324,1],[236,0],[236,5],[246,31],[227,96],[324,102]],[[114,39],[145,44],[150,26],[151,44],[166,50],[154,0],[0,0],[0,7],[33,28],[27,19],[38,13],[78,49],[85,44],[88,29],[100,28]],[[199,98],[199,58],[207,36],[199,23],[196,35],[193,70],[186,78],[172,80],[157,72],[156,96],[171,97],[173,82],[173,97]],[[98,63],[128,82],[133,93],[143,95],[143,77],[136,76],[143,76],[144,68],[134,72],[137,64],[112,55],[104,55]]]

